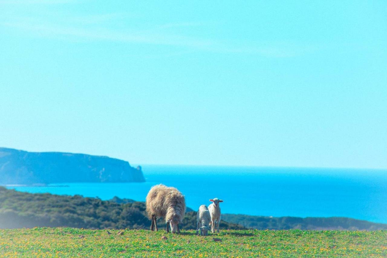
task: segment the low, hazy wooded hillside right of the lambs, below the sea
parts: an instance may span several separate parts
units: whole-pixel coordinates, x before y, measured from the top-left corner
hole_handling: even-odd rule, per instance
[[[386,230],[387,224],[373,223],[354,218],[298,218],[298,217],[264,217],[241,214],[222,214],[227,222],[238,223],[252,229],[302,229],[302,230]]]

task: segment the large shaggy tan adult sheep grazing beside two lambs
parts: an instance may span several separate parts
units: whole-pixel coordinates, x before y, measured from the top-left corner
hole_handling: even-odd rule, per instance
[[[146,212],[152,220],[151,230],[157,229],[157,217],[163,217],[166,222],[166,231],[169,232],[168,224],[172,233],[180,233],[179,223],[182,223],[185,214],[185,199],[182,193],[175,187],[167,187],[163,184],[153,186],[146,196]]]

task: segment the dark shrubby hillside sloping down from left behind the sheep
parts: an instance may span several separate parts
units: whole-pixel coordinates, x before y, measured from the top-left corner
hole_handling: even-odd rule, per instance
[[[149,229],[150,225],[144,202],[120,204],[98,198],[84,198],[80,195],[22,193],[0,186],[0,229],[22,227]],[[159,220],[158,226],[165,229],[164,221]],[[220,227],[245,229],[241,225],[227,222],[222,222]],[[180,228],[196,229],[196,212],[187,212]]]

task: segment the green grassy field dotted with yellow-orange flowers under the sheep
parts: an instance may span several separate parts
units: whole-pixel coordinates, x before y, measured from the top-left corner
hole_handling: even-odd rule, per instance
[[[205,237],[194,235],[194,230],[183,230],[180,235],[166,234],[164,230],[119,232],[74,228],[2,229],[0,256],[387,256],[387,230],[223,230]],[[213,241],[214,237],[221,241]]]

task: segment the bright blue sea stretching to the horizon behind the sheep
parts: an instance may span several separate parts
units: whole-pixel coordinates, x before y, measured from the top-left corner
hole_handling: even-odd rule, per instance
[[[178,188],[196,210],[219,198],[222,213],[350,217],[387,223],[387,170],[279,167],[142,166],[144,183],[68,183],[15,187],[29,193],[113,196],[145,201],[155,184]],[[67,187],[63,187],[66,185]]]

